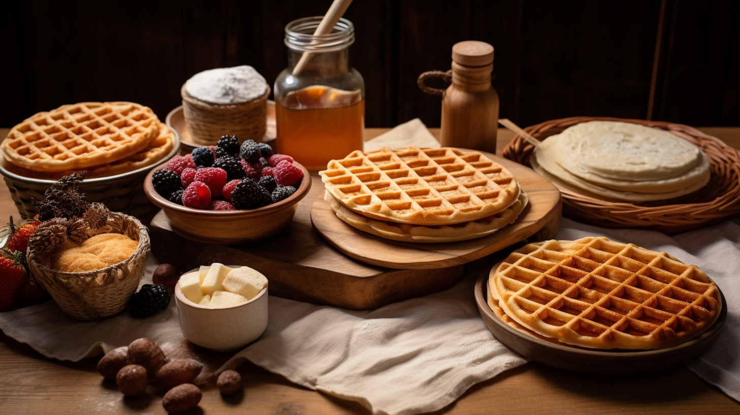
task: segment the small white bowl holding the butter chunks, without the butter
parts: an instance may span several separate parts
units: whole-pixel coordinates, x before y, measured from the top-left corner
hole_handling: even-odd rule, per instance
[[[227,265],[229,268],[240,268]],[[197,271],[191,270],[188,272]],[[180,329],[186,339],[213,351],[233,351],[257,339],[267,328],[267,288],[240,305],[209,308],[185,298],[175,285]]]

